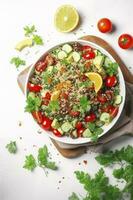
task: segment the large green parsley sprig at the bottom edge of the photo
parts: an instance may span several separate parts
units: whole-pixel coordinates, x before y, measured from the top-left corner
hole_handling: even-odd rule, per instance
[[[95,174],[94,178],[83,171],[76,171],[75,174],[87,192],[84,200],[121,200],[122,192],[118,187],[109,184],[109,179],[102,168]]]

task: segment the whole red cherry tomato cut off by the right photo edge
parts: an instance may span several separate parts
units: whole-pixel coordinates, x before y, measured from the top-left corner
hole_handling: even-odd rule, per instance
[[[129,34],[122,34],[118,39],[118,44],[122,49],[130,49],[133,47],[133,37]]]

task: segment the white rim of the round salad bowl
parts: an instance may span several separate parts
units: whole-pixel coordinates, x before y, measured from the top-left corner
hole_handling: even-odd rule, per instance
[[[72,42],[79,42],[79,43],[84,43],[84,44],[88,44],[88,45],[91,45],[92,47],[95,47],[96,49],[99,49],[101,52],[103,52],[105,55],[107,55],[112,61],[116,62],[116,60],[113,58],[113,56],[107,51],[105,50],[103,47],[101,47],[100,45],[97,45],[96,43],[93,43],[93,42],[90,42],[90,41],[87,41],[87,40],[83,40],[83,39],[74,39],[74,40],[63,40],[63,41],[60,41],[60,42],[57,42],[56,44],[51,44],[49,45],[49,47],[47,48],[44,48],[44,53],[41,54],[41,56],[39,56],[38,59],[36,59],[36,62],[34,62],[34,64],[31,65],[29,71],[28,71],[28,74],[27,74],[27,77],[26,77],[26,82],[25,82],[25,98],[27,97],[27,93],[28,93],[28,90],[27,90],[27,83],[29,81],[29,78],[34,70],[34,67],[35,67],[35,64],[42,59],[42,57],[44,55],[46,55],[48,52],[50,52],[52,49],[60,46],[60,45],[63,45],[65,43],[72,43]],[[120,69],[120,67],[118,68],[118,74],[119,74],[119,80],[120,80],[120,93],[122,93],[122,103],[120,104],[120,107],[119,107],[119,112],[117,114],[117,116],[112,120],[112,122],[108,125],[108,126],[105,126],[104,128],[104,131],[103,133],[99,136],[99,138],[103,135],[105,135],[111,128],[113,128],[113,126],[116,124],[116,122],[118,121],[122,111],[123,111],[123,108],[124,108],[124,104],[125,104],[125,95],[126,95],[126,87],[125,87],[125,81],[124,81],[124,77],[123,77],[123,74],[122,74],[122,71]],[[31,114],[30,114],[31,115]],[[33,118],[33,116],[31,115],[31,117]],[[34,120],[34,118],[33,118]],[[34,120],[35,121],[35,120]],[[41,126],[39,126],[39,124],[36,122],[36,124],[38,125],[39,128],[41,128]],[[47,130],[44,130],[43,128],[41,128],[41,130],[45,133],[47,133],[47,135],[56,140],[57,142],[61,142],[61,143],[64,143],[64,144],[70,144],[70,145],[82,145],[82,144],[86,144],[86,143],[89,143],[91,142],[90,138],[76,138],[76,139],[73,139],[73,138],[70,138],[70,137],[67,137],[67,136],[64,136],[64,137],[57,137],[55,136],[54,134],[51,133],[51,131],[47,131]]]

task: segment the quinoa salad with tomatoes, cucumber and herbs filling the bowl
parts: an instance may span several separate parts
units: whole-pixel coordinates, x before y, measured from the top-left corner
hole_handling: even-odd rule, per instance
[[[27,87],[25,110],[57,137],[96,141],[122,102],[118,64],[78,42],[60,45],[43,56]]]

